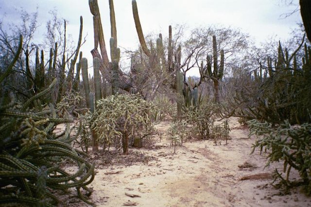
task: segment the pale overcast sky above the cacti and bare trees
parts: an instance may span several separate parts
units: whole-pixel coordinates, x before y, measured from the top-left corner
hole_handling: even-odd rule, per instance
[[[161,32],[167,36],[169,25],[175,24],[187,24],[190,28],[214,24],[240,28],[242,32],[249,33],[256,43],[259,43],[274,35],[286,39],[296,24],[301,22],[299,12],[287,18],[280,18],[282,14],[291,12],[298,6],[298,0],[294,0],[296,6],[287,6],[284,1],[286,0],[137,0],[137,3],[144,34]],[[46,22],[51,18],[48,11],[56,8],[58,16],[69,21],[67,29],[68,33],[73,35],[74,41],[78,39],[79,17],[83,16],[83,35],[87,34],[87,42],[81,50],[84,56],[91,58],[89,51],[93,48],[94,40],[88,0],[0,0],[0,2],[0,18],[4,23],[16,21],[19,18],[17,10],[21,7],[32,13],[38,6],[41,32],[46,31]],[[109,43],[108,0],[98,0],[98,2],[105,41]],[[138,45],[138,36],[131,2],[132,0],[114,0],[114,6],[118,45],[134,49]]]

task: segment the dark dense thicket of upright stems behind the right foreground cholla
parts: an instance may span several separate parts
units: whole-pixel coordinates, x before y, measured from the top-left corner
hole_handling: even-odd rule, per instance
[[[241,77],[223,116],[258,119],[272,124],[285,120],[291,124],[310,123],[311,48],[305,45],[305,54],[300,61],[296,59],[296,52],[301,46],[290,55],[279,44],[275,60],[262,60],[253,78],[250,75]]]

